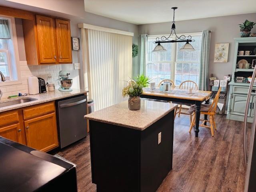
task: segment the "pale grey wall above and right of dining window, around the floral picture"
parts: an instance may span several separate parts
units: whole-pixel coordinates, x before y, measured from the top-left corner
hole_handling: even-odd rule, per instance
[[[209,74],[214,74],[219,79],[223,79],[223,76],[232,75],[234,38],[240,37],[238,24],[246,19],[256,22],[256,13],[178,21],[175,23],[176,33],[202,32],[205,29],[211,30]],[[170,29],[170,22],[144,24],[139,25],[139,34],[170,34]],[[254,26],[252,32],[256,32],[256,26]],[[230,43],[227,63],[214,63],[216,43]]]

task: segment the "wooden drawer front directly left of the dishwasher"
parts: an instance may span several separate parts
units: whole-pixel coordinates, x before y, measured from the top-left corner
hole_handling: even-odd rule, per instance
[[[41,116],[43,114],[47,114],[47,113],[54,112],[54,111],[55,111],[54,102],[50,102],[50,103],[46,103],[46,104],[42,104],[42,105],[24,109],[23,110],[23,118],[24,118],[24,120],[26,120],[29,118]]]

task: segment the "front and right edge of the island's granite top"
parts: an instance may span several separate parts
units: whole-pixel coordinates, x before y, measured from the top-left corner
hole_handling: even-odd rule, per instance
[[[154,124],[155,122],[157,122],[158,120],[160,120],[162,117],[166,116],[168,113],[170,113],[172,110],[174,110],[178,106],[178,104],[173,104],[173,105],[174,106],[172,108],[170,108],[168,111],[164,112],[161,116],[159,116],[154,121],[147,124],[146,126],[139,126],[139,127],[129,126],[127,124],[115,123],[115,122],[110,122],[110,121],[106,121],[106,120],[102,120],[102,119],[98,119],[98,118],[87,117],[87,115],[85,115],[84,118],[88,119],[88,120],[97,121],[97,122],[102,122],[102,123],[107,123],[107,124],[112,124],[112,125],[117,125],[117,126],[122,126],[122,127],[130,128],[130,129],[134,129],[134,130],[143,131],[146,128],[148,128],[149,126],[151,126],[152,124]]]

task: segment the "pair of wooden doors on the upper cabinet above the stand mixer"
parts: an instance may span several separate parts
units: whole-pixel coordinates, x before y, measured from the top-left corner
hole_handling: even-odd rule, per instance
[[[70,21],[36,15],[40,63],[72,63]]]

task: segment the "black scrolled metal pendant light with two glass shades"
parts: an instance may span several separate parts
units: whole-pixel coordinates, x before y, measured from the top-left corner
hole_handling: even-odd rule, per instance
[[[166,51],[166,49],[160,44],[160,43],[177,43],[177,42],[186,42],[184,44],[184,46],[182,46],[182,48],[180,48],[180,51],[194,51],[193,46],[189,43],[189,42],[194,42],[195,40],[192,40],[191,36],[189,35],[188,38],[186,39],[185,35],[181,35],[181,36],[177,36],[176,32],[175,32],[175,20],[174,20],[174,16],[175,16],[175,10],[178,7],[172,7],[173,9],[173,21],[172,21],[172,31],[171,34],[166,37],[166,36],[162,36],[161,38],[157,37],[156,41],[153,43],[157,43],[157,46],[154,48],[154,50],[152,52],[159,52],[159,51]],[[174,34],[172,34],[174,33]],[[170,37],[172,35],[176,36],[176,40],[171,40]]]

